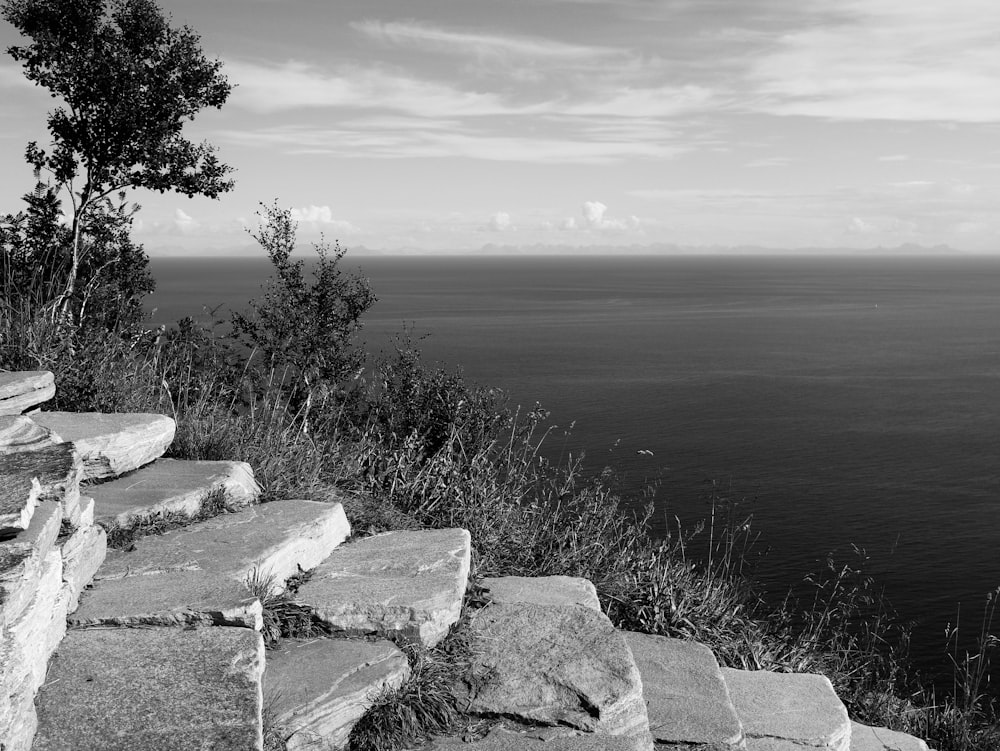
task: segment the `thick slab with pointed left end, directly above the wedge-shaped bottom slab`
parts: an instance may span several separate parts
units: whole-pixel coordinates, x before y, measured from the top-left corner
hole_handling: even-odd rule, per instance
[[[471,558],[464,529],[387,532],[338,548],[296,599],[337,630],[430,647],[458,622]]]

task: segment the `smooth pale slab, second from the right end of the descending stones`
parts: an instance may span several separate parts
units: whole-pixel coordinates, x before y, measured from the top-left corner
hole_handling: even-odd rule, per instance
[[[826,676],[733,668],[722,675],[748,751],[777,751],[790,743],[849,751],[851,721]]]

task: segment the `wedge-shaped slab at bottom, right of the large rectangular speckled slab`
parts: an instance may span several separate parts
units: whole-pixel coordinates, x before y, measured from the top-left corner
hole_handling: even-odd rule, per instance
[[[373,697],[409,675],[406,656],[388,641],[283,641],[268,652],[264,695],[288,751],[339,749]]]

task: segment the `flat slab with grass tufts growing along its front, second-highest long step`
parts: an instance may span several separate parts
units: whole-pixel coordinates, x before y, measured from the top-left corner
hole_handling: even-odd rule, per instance
[[[91,485],[95,516],[105,525],[127,525],[166,513],[192,516],[206,496],[221,492],[230,509],[249,506],[260,486],[246,462],[159,459],[124,477]]]

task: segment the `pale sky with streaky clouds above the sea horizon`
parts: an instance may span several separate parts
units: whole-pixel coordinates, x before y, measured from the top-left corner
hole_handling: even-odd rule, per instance
[[[236,84],[186,133],[237,185],[131,194],[151,255],[250,252],[273,201],[348,248],[1000,250],[996,0],[160,6]],[[0,212],[53,104],[0,60]]]

